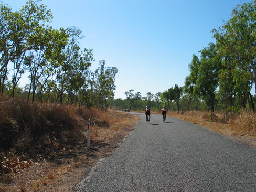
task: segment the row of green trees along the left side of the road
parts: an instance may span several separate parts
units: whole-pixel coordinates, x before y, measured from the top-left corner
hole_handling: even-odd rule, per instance
[[[91,72],[93,50],[80,48],[82,31],[76,27],[56,30],[46,25],[53,17],[39,2],[28,1],[18,12],[0,4],[1,92],[16,96],[19,91],[20,97],[26,95],[31,101],[106,109],[114,97],[118,69],[105,67],[102,60],[100,67]],[[14,71],[8,84],[7,65],[13,65]],[[17,86],[25,71],[30,81],[20,92]]]

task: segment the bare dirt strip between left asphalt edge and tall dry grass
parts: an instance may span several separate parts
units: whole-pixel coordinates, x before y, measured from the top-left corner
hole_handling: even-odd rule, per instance
[[[16,174],[2,176],[0,191],[72,191],[74,185],[87,175],[93,165],[100,159],[110,156],[118,148],[118,143],[133,130],[140,119],[136,115],[126,115],[121,129],[113,132],[104,140],[95,139],[87,148],[87,141],[80,140],[63,146],[63,150],[50,154],[48,159],[31,165]],[[101,135],[104,135],[104,129]],[[109,132],[109,129],[105,129]]]

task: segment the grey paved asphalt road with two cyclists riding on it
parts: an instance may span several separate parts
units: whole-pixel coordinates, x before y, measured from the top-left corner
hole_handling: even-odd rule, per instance
[[[145,115],[74,191],[256,191],[256,150],[197,125]]]

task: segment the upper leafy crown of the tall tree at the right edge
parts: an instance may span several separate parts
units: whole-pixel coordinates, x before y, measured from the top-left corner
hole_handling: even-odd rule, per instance
[[[222,57],[232,57],[233,69],[247,71],[256,88],[256,1],[238,5],[231,18],[212,30]],[[241,76],[240,78],[247,76]],[[247,81],[247,80],[245,80]],[[251,84],[247,81],[247,87]]]

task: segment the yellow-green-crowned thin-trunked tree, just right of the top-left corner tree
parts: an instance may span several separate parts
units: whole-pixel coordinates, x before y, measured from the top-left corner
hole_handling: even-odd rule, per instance
[[[30,50],[29,54],[25,56],[25,63],[30,73],[29,93],[32,90],[32,101],[35,100],[38,83],[40,84],[38,93],[42,95],[49,77],[56,73],[58,63],[61,62],[59,55],[67,44],[67,37],[66,31],[63,28],[56,30],[47,27],[40,28],[37,31],[35,48]]]

